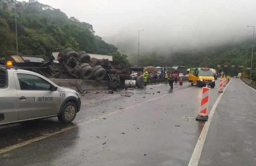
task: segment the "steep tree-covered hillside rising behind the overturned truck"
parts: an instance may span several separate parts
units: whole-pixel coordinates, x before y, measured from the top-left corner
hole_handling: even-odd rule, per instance
[[[16,55],[15,5],[0,0],[0,58]],[[89,23],[80,22],[37,0],[17,1],[17,34],[19,53],[49,57],[64,48],[88,53],[114,55],[114,60],[128,63],[114,45],[94,34]]]

